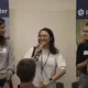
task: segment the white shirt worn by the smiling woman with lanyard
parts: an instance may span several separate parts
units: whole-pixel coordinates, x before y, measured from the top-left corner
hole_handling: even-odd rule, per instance
[[[32,53],[33,53],[33,47],[29,50],[24,58],[31,58]],[[42,66],[41,63],[43,63],[44,67]],[[41,69],[42,67],[43,67],[43,72]],[[36,73],[35,73],[35,78],[33,84],[36,87],[40,87],[41,80],[48,80],[52,76],[55,75],[57,70],[65,69],[65,68],[66,68],[66,63],[61,53],[54,55],[54,54],[50,54],[48,50],[43,50],[38,61],[36,62]],[[48,88],[56,88],[55,84],[53,84]]]

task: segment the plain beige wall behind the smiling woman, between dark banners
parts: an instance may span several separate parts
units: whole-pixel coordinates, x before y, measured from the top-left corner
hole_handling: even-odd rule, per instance
[[[75,0],[9,0],[10,35],[15,66],[28,50],[36,44],[37,32],[47,26],[55,34],[56,46],[67,63],[66,75],[59,79],[65,88],[76,80],[76,20]],[[16,88],[19,78],[13,76]]]

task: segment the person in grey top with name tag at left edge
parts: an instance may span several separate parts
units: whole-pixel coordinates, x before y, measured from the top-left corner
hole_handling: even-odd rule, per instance
[[[6,22],[0,18],[0,87],[12,88],[10,81],[14,72],[14,57],[11,43],[4,37],[4,28]]]

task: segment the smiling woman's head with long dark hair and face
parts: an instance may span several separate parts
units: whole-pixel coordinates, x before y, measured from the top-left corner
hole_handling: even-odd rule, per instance
[[[44,28],[38,32],[38,44],[44,44],[44,46],[48,47],[52,54],[56,54],[58,51],[55,48],[55,38],[51,29]]]

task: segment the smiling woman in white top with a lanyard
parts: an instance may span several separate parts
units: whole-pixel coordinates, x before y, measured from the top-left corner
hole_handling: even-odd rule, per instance
[[[55,38],[51,29],[42,29],[37,37],[38,45],[31,47],[24,56],[24,58],[32,57],[36,62],[36,74],[33,84],[42,88],[56,88],[55,80],[66,72],[65,59],[54,46]]]

